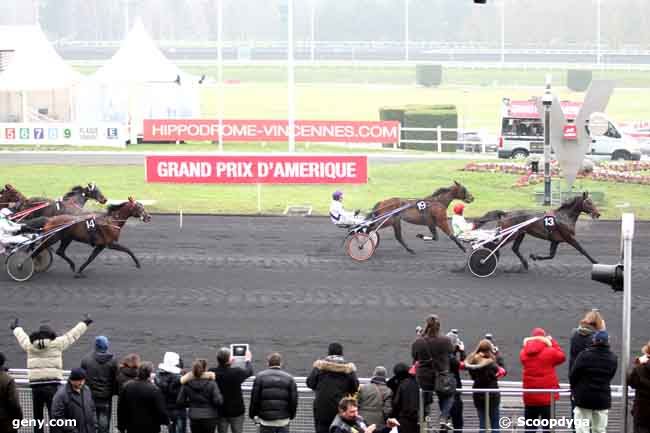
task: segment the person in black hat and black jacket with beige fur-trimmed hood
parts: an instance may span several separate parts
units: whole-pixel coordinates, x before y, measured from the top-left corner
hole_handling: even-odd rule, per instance
[[[314,390],[314,424],[316,433],[327,433],[338,412],[338,403],[359,390],[356,367],[345,362],[343,346],[331,343],[327,357],[314,362],[307,386]]]

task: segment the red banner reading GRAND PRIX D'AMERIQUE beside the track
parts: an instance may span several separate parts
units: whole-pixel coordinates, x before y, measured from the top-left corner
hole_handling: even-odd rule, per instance
[[[147,182],[328,184],[368,182],[366,156],[152,155]]]

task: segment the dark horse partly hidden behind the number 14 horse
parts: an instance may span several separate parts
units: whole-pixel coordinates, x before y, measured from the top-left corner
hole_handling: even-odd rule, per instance
[[[92,182],[86,186],[74,186],[61,199],[51,200],[44,197],[30,197],[20,201],[17,209],[18,212],[44,205],[41,209],[36,209],[29,213],[28,218],[53,217],[63,214],[76,214],[81,212],[86,202],[95,200],[100,204],[106,204],[107,199],[102,194],[97,185]]]

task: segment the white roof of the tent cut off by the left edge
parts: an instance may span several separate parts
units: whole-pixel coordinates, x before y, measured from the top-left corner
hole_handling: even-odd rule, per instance
[[[59,56],[40,26],[0,26],[0,41],[0,49],[14,51],[0,73],[0,90],[64,89],[82,78]]]

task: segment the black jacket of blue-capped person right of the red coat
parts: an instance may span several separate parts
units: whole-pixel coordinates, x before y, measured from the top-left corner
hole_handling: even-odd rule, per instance
[[[612,406],[610,382],[616,374],[618,358],[609,344],[595,344],[578,355],[569,374],[576,406],[604,410]]]

